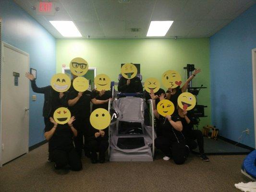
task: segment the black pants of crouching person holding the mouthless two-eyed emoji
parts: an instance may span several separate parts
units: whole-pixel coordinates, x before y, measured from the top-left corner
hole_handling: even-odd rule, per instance
[[[100,138],[92,139],[88,141],[87,146],[93,160],[97,160],[97,152],[99,152],[99,160],[105,160],[105,152],[109,147],[107,140],[101,140]]]

